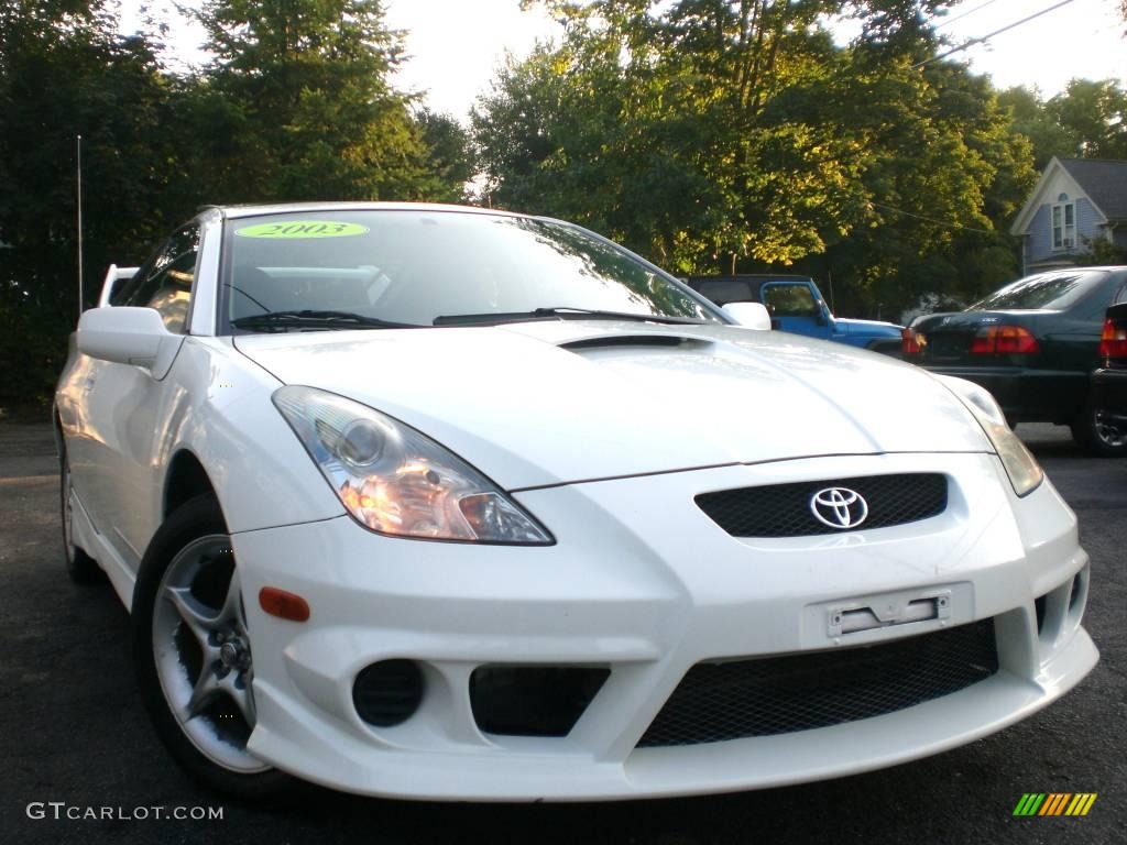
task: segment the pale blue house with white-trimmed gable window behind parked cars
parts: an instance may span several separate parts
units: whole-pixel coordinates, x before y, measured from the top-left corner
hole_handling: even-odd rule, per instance
[[[1127,161],[1054,155],[1010,233],[1022,275],[1072,267],[1099,239],[1127,248]]]

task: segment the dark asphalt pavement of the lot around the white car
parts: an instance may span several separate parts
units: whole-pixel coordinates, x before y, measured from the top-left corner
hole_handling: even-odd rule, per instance
[[[710,798],[442,804],[309,786],[256,806],[202,789],[159,745],[124,608],[64,573],[50,428],[0,424],[0,843],[1127,843],[1127,461],[1084,457],[1065,429],[1018,433],[1080,516],[1102,655],[1020,724],[895,768]],[[1014,817],[1027,792],[1098,798],[1083,818]]]

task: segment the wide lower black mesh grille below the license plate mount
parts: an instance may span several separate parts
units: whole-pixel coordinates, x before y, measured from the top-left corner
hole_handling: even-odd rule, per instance
[[[869,719],[996,671],[993,620],[878,646],[698,664],[638,746],[719,742]]]

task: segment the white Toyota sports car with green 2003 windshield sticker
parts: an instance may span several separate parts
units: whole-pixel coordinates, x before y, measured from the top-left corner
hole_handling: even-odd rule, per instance
[[[214,786],[811,781],[1097,661],[1075,517],[988,393],[578,226],[211,208],[106,284],[56,394],[69,569]]]

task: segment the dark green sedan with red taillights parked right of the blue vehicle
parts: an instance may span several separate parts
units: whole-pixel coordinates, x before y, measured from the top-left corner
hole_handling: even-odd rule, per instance
[[[1094,454],[1127,454],[1127,437],[1092,398],[1104,312],[1122,296],[1127,267],[1027,276],[965,311],[917,318],[904,332],[904,357],[986,388],[1010,425],[1066,425]]]

